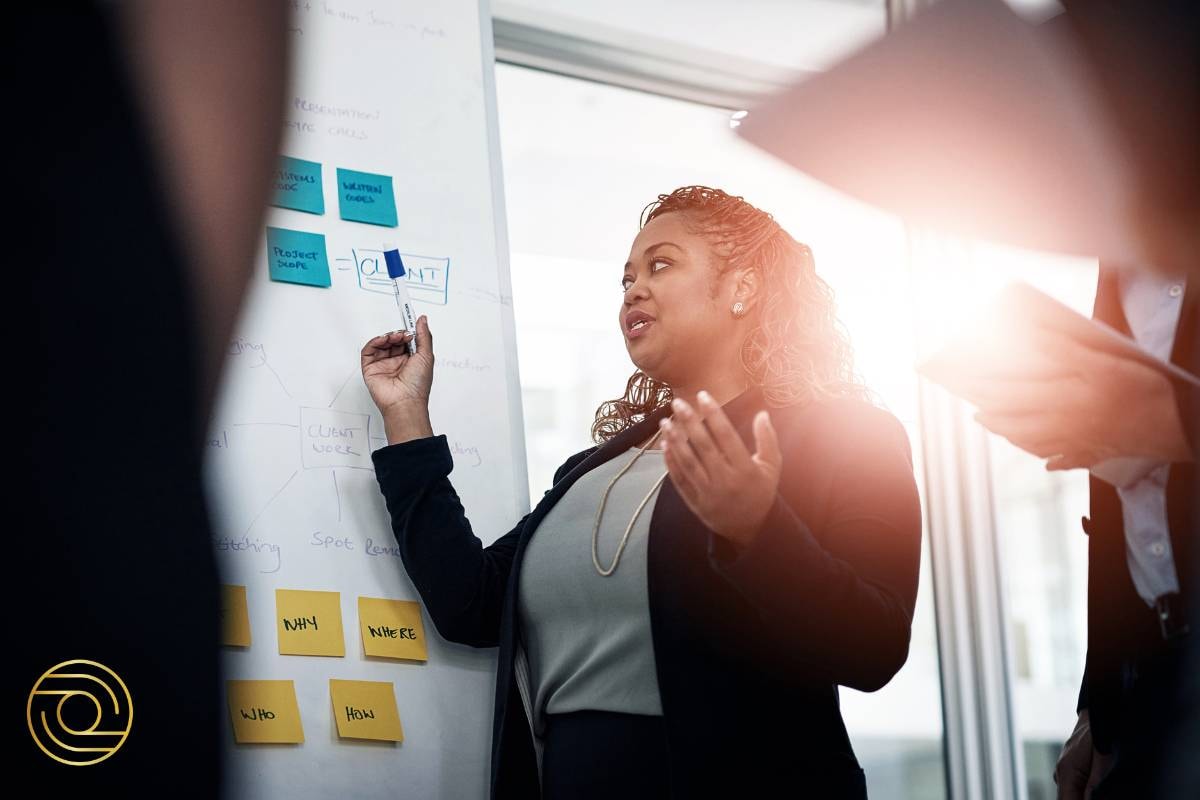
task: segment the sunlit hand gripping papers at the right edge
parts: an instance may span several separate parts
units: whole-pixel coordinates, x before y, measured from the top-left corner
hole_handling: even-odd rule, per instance
[[[989,378],[966,379],[976,420],[1049,458],[1046,469],[1114,457],[1192,461],[1171,381],[1159,371],[1060,335],[1015,337]]]

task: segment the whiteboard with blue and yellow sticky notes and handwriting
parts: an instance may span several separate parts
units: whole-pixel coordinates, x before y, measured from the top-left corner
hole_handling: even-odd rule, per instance
[[[325,212],[271,207],[266,224],[323,234],[330,285],[271,281],[260,245],[205,480],[222,578],[246,587],[252,634],[226,649],[224,678],[293,680],[305,741],[236,745],[223,706],[227,794],[486,796],[496,651],[443,642],[422,608],[426,663],[368,658],[358,597],[420,600],[371,469],[385,441],[359,368],[362,344],[400,326],[385,243],[430,318],[433,428],[476,534],[490,543],[528,510],[487,0],[301,0],[289,36],[281,152],[322,164]],[[398,225],[341,219],[337,168],[392,176]],[[323,426],[361,439],[318,452]],[[276,589],[341,593],[346,657],[280,655]],[[404,741],[340,740],[331,678],[392,682]]]

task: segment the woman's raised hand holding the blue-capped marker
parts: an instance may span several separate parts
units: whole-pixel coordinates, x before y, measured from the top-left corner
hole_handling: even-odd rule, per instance
[[[382,333],[362,348],[362,380],[383,414],[388,444],[432,437],[430,389],[433,386],[433,336],[430,321],[416,320],[416,353],[409,355],[414,333]]]

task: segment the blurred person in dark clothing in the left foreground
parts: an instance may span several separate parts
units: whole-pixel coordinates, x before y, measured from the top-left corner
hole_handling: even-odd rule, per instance
[[[26,5],[13,26],[13,266],[31,324],[6,354],[32,402],[10,489],[12,690],[24,700],[47,669],[89,660],[132,703],[114,718],[94,686],[106,702],[40,698],[14,778],[37,794],[220,792],[202,447],[275,166],[286,19],[278,1],[132,0]],[[54,728],[66,760],[90,758],[70,748],[115,741],[92,723],[128,727],[92,765],[35,744]]]

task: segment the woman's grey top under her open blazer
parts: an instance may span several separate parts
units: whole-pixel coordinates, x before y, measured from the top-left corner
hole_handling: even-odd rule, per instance
[[[608,481],[637,449],[582,475],[538,525],[521,563],[517,613],[528,652],[534,729],[545,714],[618,711],[661,715],[650,640],[646,552],[659,491],[637,517],[616,572],[592,564],[592,527]],[[637,505],[666,471],[661,450],[647,450],[608,493],[599,559],[612,565]]]

